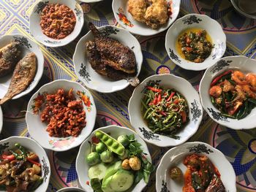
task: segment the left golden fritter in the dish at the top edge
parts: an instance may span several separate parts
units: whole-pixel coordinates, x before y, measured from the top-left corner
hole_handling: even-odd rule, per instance
[[[132,18],[140,22],[145,23],[144,15],[146,14],[147,3],[145,0],[129,0],[128,12],[132,15]]]

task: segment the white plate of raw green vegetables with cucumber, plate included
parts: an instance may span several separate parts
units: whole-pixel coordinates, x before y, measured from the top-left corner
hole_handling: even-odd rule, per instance
[[[154,167],[146,143],[135,131],[121,126],[97,128],[80,145],[78,180],[93,191],[142,191]]]

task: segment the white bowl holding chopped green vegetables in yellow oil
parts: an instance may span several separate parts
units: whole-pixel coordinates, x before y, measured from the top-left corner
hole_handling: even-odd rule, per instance
[[[183,69],[200,71],[222,58],[226,36],[222,26],[207,15],[189,14],[168,29],[165,49],[170,59]]]

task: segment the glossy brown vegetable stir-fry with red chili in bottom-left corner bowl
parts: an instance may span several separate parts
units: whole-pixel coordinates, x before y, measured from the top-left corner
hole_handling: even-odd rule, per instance
[[[1,146],[0,190],[34,191],[41,185],[42,169],[36,153],[16,143],[12,149]]]

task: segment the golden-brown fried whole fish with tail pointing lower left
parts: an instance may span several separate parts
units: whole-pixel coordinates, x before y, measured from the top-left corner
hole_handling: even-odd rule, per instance
[[[12,97],[28,88],[31,81],[34,80],[36,71],[37,56],[34,53],[26,54],[26,56],[15,66],[8,91],[4,98],[1,99],[0,104],[4,104],[4,102],[12,99]]]

